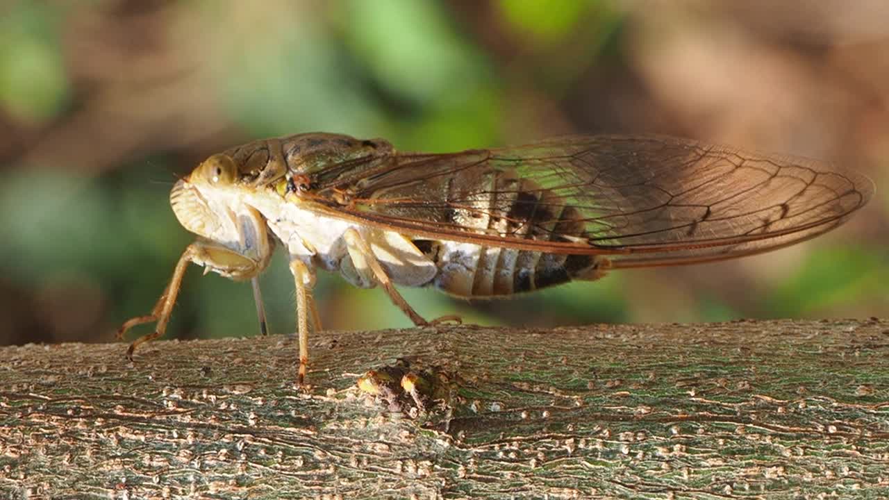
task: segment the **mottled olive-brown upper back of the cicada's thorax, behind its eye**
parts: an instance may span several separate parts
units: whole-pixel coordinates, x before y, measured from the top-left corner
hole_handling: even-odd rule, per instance
[[[252,141],[224,154],[238,165],[242,181],[265,186],[292,175],[311,176],[323,166],[349,165],[349,160],[391,150],[388,141],[380,139],[360,140],[340,133],[298,133]]]

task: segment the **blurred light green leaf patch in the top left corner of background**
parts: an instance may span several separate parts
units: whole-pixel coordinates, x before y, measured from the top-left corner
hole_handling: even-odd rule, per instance
[[[52,4],[17,2],[0,16],[0,106],[27,123],[55,117],[68,97]]]

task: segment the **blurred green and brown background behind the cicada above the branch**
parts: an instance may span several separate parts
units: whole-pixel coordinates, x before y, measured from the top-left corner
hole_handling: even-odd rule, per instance
[[[0,344],[112,340],[151,309],[191,239],[168,204],[176,175],[245,141],[312,131],[435,152],[668,133],[831,159],[882,187],[840,230],[772,254],[509,301],[404,290],[428,318],[887,317],[889,9],[806,5],[7,0]],[[292,332],[282,255],[262,286],[273,333]],[[337,276],[322,273],[316,299],[325,327],[410,325],[380,290]],[[167,336],[257,331],[249,284],[192,266]]]

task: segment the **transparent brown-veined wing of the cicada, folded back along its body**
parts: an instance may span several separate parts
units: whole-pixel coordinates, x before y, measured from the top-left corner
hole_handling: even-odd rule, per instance
[[[874,191],[868,178],[811,159],[663,136],[399,154],[356,175],[343,166],[317,192],[331,214],[427,238],[613,254],[619,267],[787,246],[837,227]],[[348,204],[324,198],[346,186]]]

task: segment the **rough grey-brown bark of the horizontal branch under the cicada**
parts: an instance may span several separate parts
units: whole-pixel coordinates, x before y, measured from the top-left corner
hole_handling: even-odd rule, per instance
[[[0,350],[0,495],[889,496],[889,321],[323,332]],[[411,416],[356,388],[436,366]],[[414,412],[415,413],[415,412]]]

